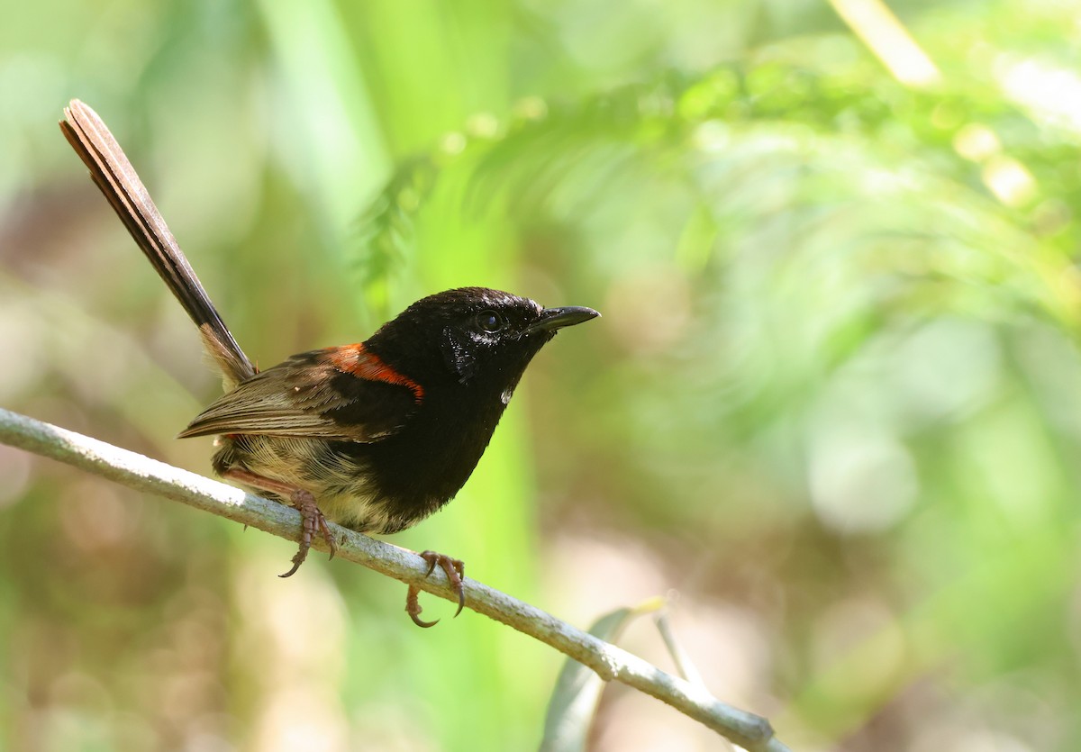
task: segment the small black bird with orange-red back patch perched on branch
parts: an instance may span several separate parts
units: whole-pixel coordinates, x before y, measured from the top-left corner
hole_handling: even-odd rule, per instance
[[[259,370],[237,344],[146,187],[103,120],[72,99],[61,130],[94,183],[199,328],[224,393],[179,432],[213,435],[216,474],[295,507],[290,577],[328,521],[392,534],[442,508],[484,453],[533,357],[556,334],[600,314],[471,286],[428,295],[360,343],[302,352]],[[433,551],[465,605],[464,565]],[[406,612],[421,627],[417,589]]]

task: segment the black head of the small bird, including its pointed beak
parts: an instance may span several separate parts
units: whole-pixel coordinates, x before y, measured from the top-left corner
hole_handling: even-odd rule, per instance
[[[509,398],[533,355],[591,308],[542,308],[488,287],[458,287],[414,303],[384,324],[365,347],[425,385],[455,384]]]

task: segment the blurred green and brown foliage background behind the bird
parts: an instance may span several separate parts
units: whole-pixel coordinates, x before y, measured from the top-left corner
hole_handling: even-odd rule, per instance
[[[669,596],[793,749],[1081,749],[1081,5],[889,6],[9,3],[0,405],[209,472],[79,97],[263,364],[458,284],[602,310],[393,542],[580,626]],[[536,748],[558,654],[293,549],[0,447],[0,748]],[[721,749],[618,686],[590,748]]]

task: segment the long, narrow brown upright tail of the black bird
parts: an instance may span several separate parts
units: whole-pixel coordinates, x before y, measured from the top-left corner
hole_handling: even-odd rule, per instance
[[[203,347],[222,372],[226,390],[253,376],[255,367],[232,338],[120,144],[90,107],[72,99],[61,131],[76,150],[117,216],[143,249],[176,299],[199,327]]]

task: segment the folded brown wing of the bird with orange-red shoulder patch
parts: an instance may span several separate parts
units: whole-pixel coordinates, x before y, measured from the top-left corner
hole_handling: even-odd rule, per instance
[[[424,399],[363,345],[293,355],[242,381],[179,435],[255,433],[371,442],[405,425]]]

